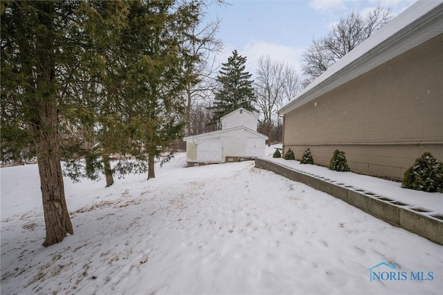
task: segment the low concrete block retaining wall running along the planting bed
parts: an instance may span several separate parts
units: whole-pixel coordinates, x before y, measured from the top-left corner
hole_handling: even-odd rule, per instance
[[[352,187],[312,173],[298,171],[284,164],[266,159],[255,159],[255,166],[273,171],[291,180],[302,182],[318,191],[329,193],[329,195],[370,213],[372,216],[390,223],[390,225],[401,227],[443,245],[443,216],[439,214],[412,204],[404,204],[380,196],[365,189]]]

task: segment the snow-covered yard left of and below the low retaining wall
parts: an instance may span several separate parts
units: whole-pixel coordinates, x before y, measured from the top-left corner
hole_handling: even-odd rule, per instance
[[[75,234],[48,248],[37,165],[0,169],[1,294],[442,294],[442,246],[253,162],[185,161],[66,179]]]

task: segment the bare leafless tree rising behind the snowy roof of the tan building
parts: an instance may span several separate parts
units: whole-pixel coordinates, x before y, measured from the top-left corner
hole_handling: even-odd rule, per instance
[[[366,17],[352,11],[345,19],[341,18],[326,37],[313,39],[302,55],[305,61],[302,71],[307,79],[305,86],[391,19],[391,10],[381,6]]]

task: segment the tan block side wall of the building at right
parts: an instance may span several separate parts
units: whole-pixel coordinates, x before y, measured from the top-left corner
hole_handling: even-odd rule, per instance
[[[401,179],[425,151],[443,160],[443,34],[284,115],[284,152]]]

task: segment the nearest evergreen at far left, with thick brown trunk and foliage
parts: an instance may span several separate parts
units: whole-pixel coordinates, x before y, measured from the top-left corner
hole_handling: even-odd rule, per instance
[[[43,245],[49,246],[73,234],[60,164],[59,114],[64,86],[77,68],[80,40],[74,41],[71,29],[78,2],[1,1],[0,6],[2,123],[17,122],[16,130],[26,137],[19,145],[33,142],[46,225]]]

